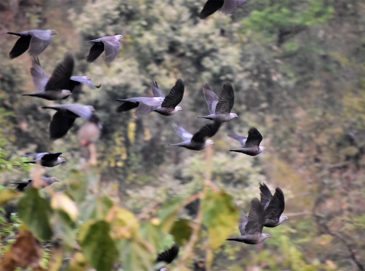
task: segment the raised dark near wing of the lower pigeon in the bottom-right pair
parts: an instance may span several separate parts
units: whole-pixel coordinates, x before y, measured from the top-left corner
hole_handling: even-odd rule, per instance
[[[265,224],[264,209],[258,198],[251,201],[248,221],[245,228],[246,234],[261,234]]]

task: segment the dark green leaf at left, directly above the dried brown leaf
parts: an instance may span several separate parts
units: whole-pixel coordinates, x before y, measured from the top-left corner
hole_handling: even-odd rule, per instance
[[[38,190],[29,188],[24,192],[18,203],[19,217],[32,232],[43,240],[50,240],[52,229],[49,223],[52,209],[45,199],[41,198]]]

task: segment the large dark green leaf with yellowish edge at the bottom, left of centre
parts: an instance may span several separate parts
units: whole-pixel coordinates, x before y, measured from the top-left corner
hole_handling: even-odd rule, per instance
[[[81,242],[82,252],[96,270],[111,270],[118,257],[109,228],[110,225],[105,221],[95,222],[88,227]]]

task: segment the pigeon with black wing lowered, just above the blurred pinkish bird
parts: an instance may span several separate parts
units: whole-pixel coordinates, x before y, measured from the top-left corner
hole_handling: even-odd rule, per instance
[[[93,106],[83,106],[81,104],[61,104],[58,106],[43,106],[42,108],[57,110],[57,112],[53,115],[49,126],[51,139],[63,137],[78,117],[95,123],[99,129],[103,128],[103,126],[99,123],[99,118],[93,114],[93,111],[95,111]]]

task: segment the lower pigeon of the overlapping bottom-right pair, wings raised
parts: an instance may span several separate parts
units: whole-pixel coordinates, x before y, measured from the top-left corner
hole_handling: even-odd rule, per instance
[[[236,238],[228,238],[226,240],[243,242],[245,244],[255,245],[261,243],[266,238],[271,236],[267,233],[262,233],[265,217],[264,208],[258,198],[251,201],[249,216],[240,210],[238,229],[242,236]]]

